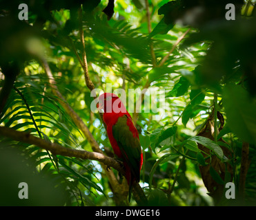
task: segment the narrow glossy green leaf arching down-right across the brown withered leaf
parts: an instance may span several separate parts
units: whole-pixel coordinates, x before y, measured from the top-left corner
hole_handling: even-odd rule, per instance
[[[209,148],[211,151],[221,159],[221,161],[224,161],[224,153],[219,145],[217,145],[213,140],[210,140],[207,137],[201,137],[201,136],[195,136],[190,137],[188,140],[193,140],[201,145],[204,145],[205,147]]]

